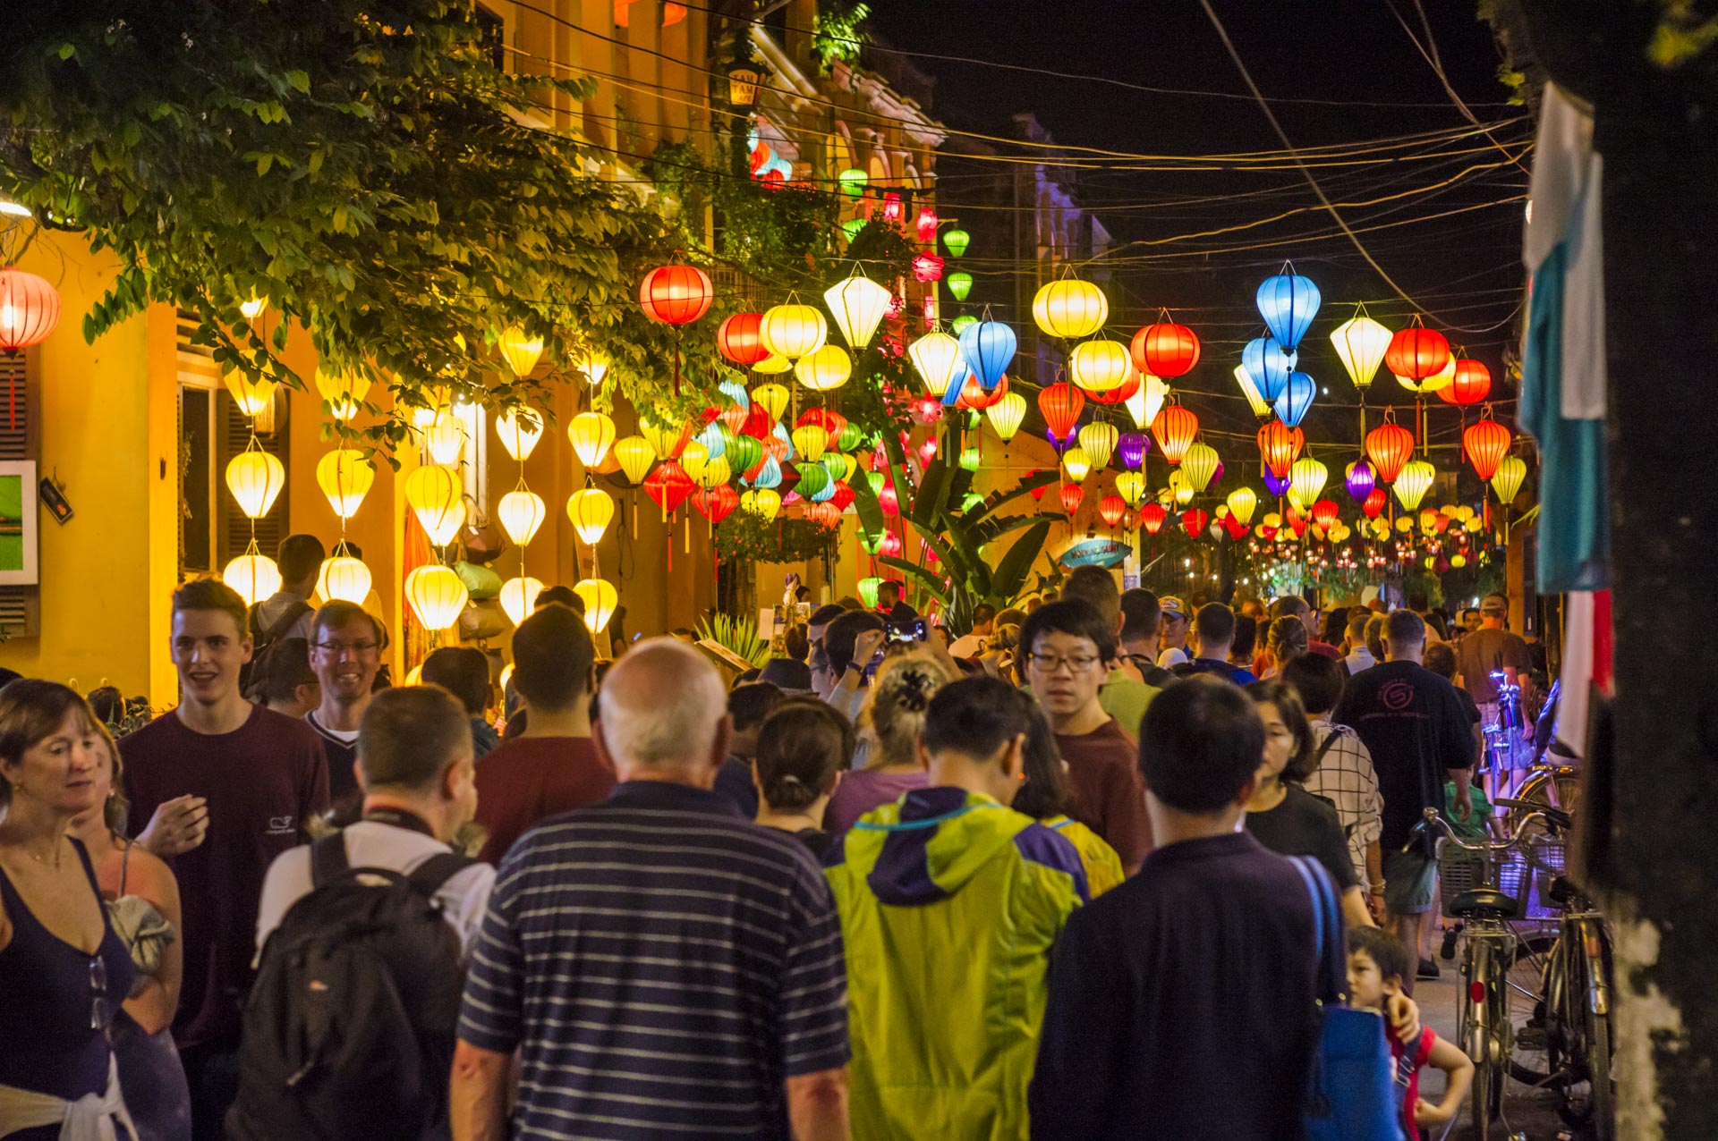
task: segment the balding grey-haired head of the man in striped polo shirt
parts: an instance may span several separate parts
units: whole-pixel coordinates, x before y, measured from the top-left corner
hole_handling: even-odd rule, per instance
[[[727,715],[722,676],[679,638],[649,638],[620,657],[596,697],[617,764],[679,767],[710,758]]]

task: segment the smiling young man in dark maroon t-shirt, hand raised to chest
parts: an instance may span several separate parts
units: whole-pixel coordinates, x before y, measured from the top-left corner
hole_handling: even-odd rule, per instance
[[[328,762],[308,724],[239,693],[251,635],[232,587],[206,578],[174,594],[172,650],[179,707],[119,750],[131,827],[172,858],[184,901],[186,981],[174,1040],[191,1083],[192,1136],[203,1141],[222,1136],[239,1088],[239,1011],[251,987],[263,877],[328,808]]]

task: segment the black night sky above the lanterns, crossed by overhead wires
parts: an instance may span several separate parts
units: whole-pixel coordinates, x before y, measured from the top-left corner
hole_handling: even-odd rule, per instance
[[[1481,122],[1519,120],[1493,134],[1510,154],[1520,154],[1520,144],[1531,139],[1531,124],[1522,118],[1522,108],[1507,105],[1510,93],[1496,79],[1502,60],[1488,26],[1477,19],[1471,0],[1421,3],[1431,21],[1431,43],[1457,94]],[[1469,125],[1392,15],[1392,5],[1421,33],[1414,0],[1215,0],[1240,58],[1297,148]],[[904,58],[935,77],[933,113],[967,130],[1007,136],[1015,112],[1036,112],[1065,146],[1173,156],[1282,149],[1197,0],[873,0],[871,27],[888,45],[923,53]],[[1426,43],[1424,34],[1419,38]],[[962,60],[929,58],[938,55]],[[993,63],[1165,91],[1060,79]],[[1392,154],[1402,161],[1321,166],[1314,175],[1331,201],[1347,202],[1426,187],[1467,166],[1496,165],[1469,172],[1440,190],[1345,208],[1343,218],[1356,228],[1412,220],[1362,232],[1361,240],[1423,304],[1428,323],[1443,328],[1452,343],[1465,345],[1502,377],[1503,348],[1515,338],[1510,314],[1520,302],[1524,214],[1520,202],[1496,202],[1524,194],[1527,175],[1483,136],[1429,141]],[[1117,165],[1125,160],[1093,161]],[[1526,156],[1520,161],[1531,165]],[[1199,369],[1208,374],[1201,388],[1215,391],[1218,381],[1228,379],[1240,345],[1264,331],[1252,304],[1258,283],[1285,259],[1294,259],[1325,293],[1325,309],[1306,341],[1301,367],[1330,384],[1328,403],[1352,401],[1354,388],[1326,340],[1330,328],[1352,314],[1356,300],[1374,302],[1373,314],[1392,328],[1404,324],[1416,307],[1400,300],[1354,245],[1335,233],[1294,165],[1276,165],[1282,168],[1268,172],[1082,172],[1082,196],[1117,242],[1180,238],[1313,208],[1227,235],[1118,251],[1122,257],[1108,288],[1118,314],[1112,324],[1125,336],[1149,321],[1158,305],[1168,305],[1201,333],[1213,365],[1221,362],[1220,369]],[[960,192],[959,185],[940,187],[945,216],[959,211]],[[1472,209],[1426,220],[1464,208]],[[1240,249],[1266,242],[1282,244]],[[974,249],[971,256],[984,256],[984,251]],[[1409,401],[1388,374],[1380,377],[1374,401],[1398,407]],[[1234,391],[1232,381],[1225,391]],[[1505,395],[1502,384],[1496,391]],[[1251,426],[1244,405],[1234,412],[1235,427]],[[1323,408],[1321,415],[1349,422],[1335,407]],[[1453,434],[1455,419],[1448,419],[1447,431]]]

